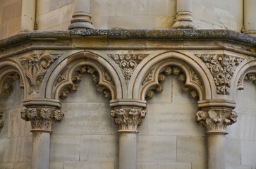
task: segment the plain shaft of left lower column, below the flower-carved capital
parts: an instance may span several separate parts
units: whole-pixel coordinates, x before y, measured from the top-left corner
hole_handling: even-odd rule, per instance
[[[50,133],[33,132],[32,169],[49,169]]]

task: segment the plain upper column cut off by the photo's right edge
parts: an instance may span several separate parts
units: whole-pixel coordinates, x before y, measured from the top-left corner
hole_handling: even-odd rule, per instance
[[[244,0],[244,33],[256,37],[256,1]]]

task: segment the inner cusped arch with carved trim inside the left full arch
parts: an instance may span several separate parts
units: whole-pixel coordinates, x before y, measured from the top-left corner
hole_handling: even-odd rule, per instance
[[[87,59],[75,61],[62,70],[54,84],[55,98],[66,98],[70,91],[75,92],[84,73],[90,73],[97,91],[103,93],[107,99],[111,99],[111,94],[115,93],[111,76],[98,63]]]

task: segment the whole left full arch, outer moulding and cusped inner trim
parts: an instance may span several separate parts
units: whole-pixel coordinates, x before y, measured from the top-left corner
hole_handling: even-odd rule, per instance
[[[93,68],[92,71],[98,73],[99,77],[97,83],[102,86],[100,87],[102,90],[109,89],[111,92],[111,98],[109,99],[122,98],[122,86],[116,70],[114,70],[112,65],[102,56],[90,51],[80,51],[72,54],[71,56],[64,58],[63,61],[54,68],[47,82],[46,98],[59,99],[60,92],[63,88],[69,87],[73,90],[73,87],[77,87],[74,81],[79,81],[80,75],[75,76],[73,73],[78,71],[78,68],[83,69],[83,66],[84,68],[86,67],[85,72],[87,73],[93,74],[90,67]],[[83,70],[80,71],[83,72]],[[75,90],[76,89],[74,89],[74,91]]]

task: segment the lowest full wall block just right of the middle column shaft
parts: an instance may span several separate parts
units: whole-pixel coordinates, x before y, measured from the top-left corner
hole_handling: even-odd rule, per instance
[[[137,161],[176,161],[176,136],[138,135]]]

